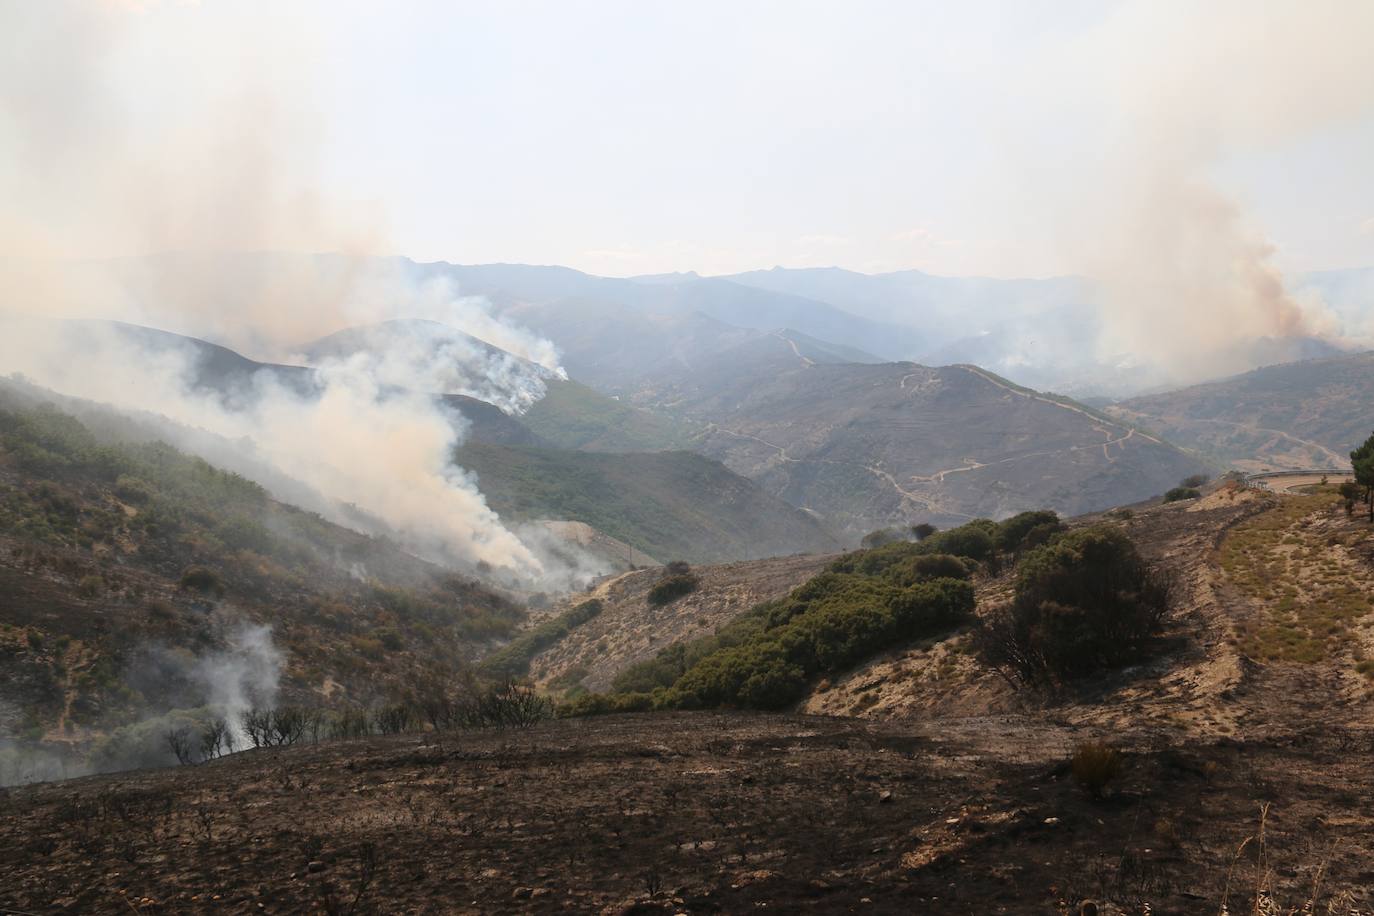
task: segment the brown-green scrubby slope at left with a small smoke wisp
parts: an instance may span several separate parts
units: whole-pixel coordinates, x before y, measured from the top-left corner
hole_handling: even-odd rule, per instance
[[[489,588],[146,435],[126,415],[0,386],[7,751],[21,739],[77,766],[162,762],[176,710],[370,705],[523,619]],[[25,776],[7,764],[0,781]]]

